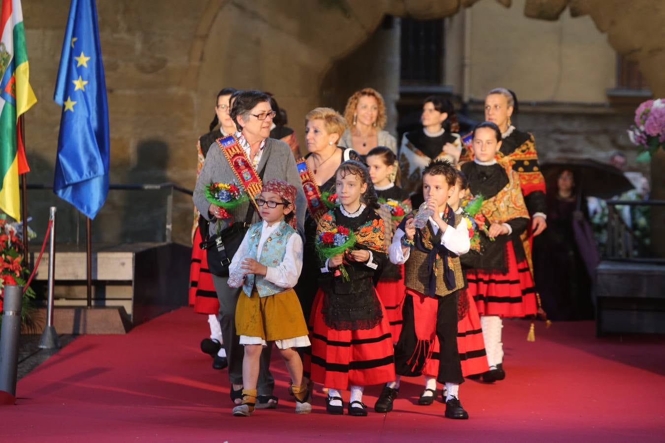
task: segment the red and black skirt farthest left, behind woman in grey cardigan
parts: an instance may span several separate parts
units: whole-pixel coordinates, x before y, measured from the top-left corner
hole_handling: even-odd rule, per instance
[[[199,248],[200,243],[201,232],[197,229],[192,247],[192,262],[190,262],[189,304],[194,306],[194,312],[217,315],[219,300],[212,282],[212,274],[207,268],[207,252]]]

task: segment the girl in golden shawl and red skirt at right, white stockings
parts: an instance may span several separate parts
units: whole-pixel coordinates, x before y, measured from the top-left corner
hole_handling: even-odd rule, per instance
[[[475,220],[481,233],[481,254],[466,271],[467,292],[473,296],[487,351],[489,371],[483,381],[505,378],[501,319],[525,317],[537,311],[533,278],[519,235],[527,228],[529,212],[524,203],[519,177],[508,158],[497,161],[501,131],[491,122],[473,131],[473,161],[462,165],[469,179],[469,195],[482,195],[483,203]]]

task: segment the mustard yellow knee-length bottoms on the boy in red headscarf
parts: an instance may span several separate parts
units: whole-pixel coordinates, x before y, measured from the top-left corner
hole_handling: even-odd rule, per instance
[[[235,333],[265,341],[306,337],[307,323],[295,291],[289,289],[268,297],[259,297],[256,291],[247,297],[241,291],[235,306]]]

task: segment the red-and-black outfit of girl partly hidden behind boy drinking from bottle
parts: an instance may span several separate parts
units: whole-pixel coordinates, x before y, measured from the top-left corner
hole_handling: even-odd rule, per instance
[[[376,195],[378,196],[379,201],[386,202],[384,203],[385,205],[390,206],[394,205],[394,203],[398,203],[400,208],[403,209],[404,215],[411,212],[411,199],[409,198],[408,193],[398,186],[393,185],[388,189],[376,189]],[[390,227],[390,232],[388,232],[388,228],[386,227],[387,244],[392,242],[392,235],[397,229],[400,221],[402,220],[394,220],[390,221],[390,224],[386,224],[386,226]],[[387,223],[385,220],[384,222]],[[392,341],[393,343],[397,343],[400,338],[400,332],[402,331],[402,306],[406,294],[406,286],[404,286],[404,266],[401,264],[386,262],[383,272],[376,284],[376,293],[386,309],[386,317],[388,317],[388,323],[390,324]]]

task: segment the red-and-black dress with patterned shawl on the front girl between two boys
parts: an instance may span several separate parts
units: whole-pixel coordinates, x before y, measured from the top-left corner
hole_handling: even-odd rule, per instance
[[[383,221],[369,208],[358,217],[333,209],[319,221],[317,238],[334,226],[353,230],[358,239],[354,249],[370,250],[370,261],[377,266],[344,264],[348,282],[331,272],[322,274],[310,318],[312,347],[305,355],[305,376],[331,389],[387,383],[395,378],[392,336],[374,290],[375,274],[387,260]]]

